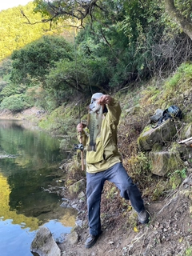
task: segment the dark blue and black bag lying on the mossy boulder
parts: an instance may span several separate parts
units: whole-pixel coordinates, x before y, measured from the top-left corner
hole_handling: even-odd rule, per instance
[[[165,122],[169,118],[182,119],[182,110],[180,110],[180,108],[175,105],[169,106],[166,110],[162,112],[162,116],[158,119],[158,124],[152,127],[157,128],[162,124],[162,122]]]

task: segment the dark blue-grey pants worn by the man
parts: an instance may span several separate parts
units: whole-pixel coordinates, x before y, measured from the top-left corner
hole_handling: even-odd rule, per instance
[[[126,173],[122,163],[117,163],[108,170],[96,174],[86,173],[86,198],[90,234],[97,235],[101,231],[100,203],[104,182],[113,182],[121,191],[122,198],[130,199],[131,205],[138,213],[144,209],[141,194]]]

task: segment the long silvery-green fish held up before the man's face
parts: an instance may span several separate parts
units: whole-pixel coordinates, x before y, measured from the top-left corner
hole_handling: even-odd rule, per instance
[[[87,126],[90,131],[90,142],[87,151],[96,151],[96,138],[100,134],[102,126],[102,106],[97,101],[90,104]]]

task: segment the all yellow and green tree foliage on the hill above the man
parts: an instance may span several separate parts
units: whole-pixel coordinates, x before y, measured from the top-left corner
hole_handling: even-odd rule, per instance
[[[13,100],[14,111],[37,105],[51,112],[74,95],[80,101],[98,90],[114,93],[132,82],[147,81],[157,75],[166,78],[182,62],[190,62],[192,41],[179,21],[170,20],[165,3],[170,0],[131,0],[129,4],[123,0],[35,0],[34,7],[30,2],[22,8],[17,22],[11,20],[16,26],[13,31],[18,31],[19,38],[22,33],[30,35],[26,37],[29,41],[20,40],[18,34],[8,33],[8,29],[5,34],[11,38],[9,42],[14,42],[10,50],[17,50],[1,65],[1,108],[9,107]],[[187,18],[191,22],[188,0],[182,1],[182,5],[175,1],[172,7],[183,21]],[[10,24],[10,12],[17,17],[17,8],[0,13],[6,26]],[[25,27],[21,22],[26,23],[22,24]],[[61,33],[63,26],[69,24],[78,31],[74,42],[67,42]],[[62,30],[56,30],[61,25]],[[25,32],[20,33],[18,26]],[[61,37],[54,34],[39,38],[50,28]],[[75,35],[76,30],[72,31]],[[2,52],[7,56],[2,42]],[[18,107],[22,99],[26,103]]]

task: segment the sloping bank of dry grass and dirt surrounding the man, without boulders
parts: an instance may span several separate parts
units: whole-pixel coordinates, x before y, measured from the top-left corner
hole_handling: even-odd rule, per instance
[[[122,152],[123,164],[142,191],[146,209],[150,213],[150,223],[145,226],[139,225],[137,214],[131,209],[130,204],[123,201],[118,190],[106,182],[102,194],[103,232],[101,237],[93,247],[85,249],[84,242],[89,234],[86,221],[86,202],[79,202],[78,194],[76,194],[73,200],[74,204],[78,205],[78,220],[82,221],[82,227],[78,226],[74,229],[77,232],[75,234],[78,234],[78,242],[74,242],[74,232],[72,232],[66,237],[66,241],[59,245],[62,255],[186,256],[192,254],[192,169],[190,158],[185,162],[186,178],[182,178],[182,182],[177,187],[167,186],[169,178],[151,176],[150,172],[146,171],[137,173],[133,166],[131,168],[131,161],[129,161],[133,158],[136,159],[139,155],[138,135],[147,126],[150,115],[154,114],[157,108],[166,108],[171,104],[178,105],[183,111],[182,126],[186,126],[187,122],[190,123],[192,92],[190,80],[186,77],[182,74],[178,78],[175,84],[179,88],[178,90],[168,86],[171,79],[175,78],[172,76],[166,82],[155,81],[158,86],[153,87],[154,81],[151,81],[148,84],[143,84],[142,87],[139,86],[138,89],[135,85],[134,87],[129,86],[127,90],[115,95],[122,105],[118,145]],[[164,98],[165,95],[166,98]],[[174,142],[178,142],[181,138],[182,133],[178,131]],[[166,145],[166,147],[168,146]],[[137,166],[138,162],[135,161],[134,164]],[[76,171],[79,179],[80,170]],[[72,177],[75,179],[75,174]]]

